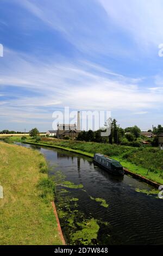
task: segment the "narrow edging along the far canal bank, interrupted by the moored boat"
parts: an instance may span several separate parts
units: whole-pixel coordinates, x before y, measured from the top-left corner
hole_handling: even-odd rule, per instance
[[[87,153],[85,151],[81,151],[81,150],[76,150],[76,149],[71,149],[71,148],[65,148],[65,147],[61,147],[61,146],[58,146],[58,145],[48,145],[48,144],[45,144],[45,143],[37,143],[37,142],[26,142],[26,141],[23,141],[23,143],[25,144],[33,144],[33,145],[40,145],[40,146],[43,146],[43,147],[48,147],[48,148],[58,148],[58,149],[62,149],[62,150],[65,150],[65,151],[69,151],[69,152],[72,152],[72,153],[77,153],[77,154],[80,154],[80,155],[83,155],[83,156],[87,156],[87,157],[90,157],[92,159],[93,157],[93,154],[92,153]],[[144,182],[146,182],[147,184],[149,185],[152,185],[156,188],[159,188],[159,186],[161,184],[155,182],[155,181],[152,181],[152,180],[149,180],[148,178],[146,178],[145,176],[142,176],[140,174],[136,174],[134,172],[131,172],[130,170],[128,170],[127,168],[123,168],[124,169],[124,173],[127,174],[127,175],[131,175],[133,176],[134,178],[136,179],[139,179],[139,180],[142,180]]]

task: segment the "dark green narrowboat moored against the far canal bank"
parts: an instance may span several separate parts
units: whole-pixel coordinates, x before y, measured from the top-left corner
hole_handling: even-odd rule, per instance
[[[101,154],[94,154],[93,160],[103,169],[107,170],[109,173],[115,174],[115,175],[124,175],[123,166],[120,162],[109,159],[108,157],[105,157]]]

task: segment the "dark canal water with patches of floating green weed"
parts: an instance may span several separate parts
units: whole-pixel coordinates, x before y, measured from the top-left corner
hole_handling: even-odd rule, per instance
[[[84,156],[21,145],[40,150],[49,163],[49,176],[58,177],[55,204],[67,244],[163,244],[158,190],[129,175],[117,179]]]

